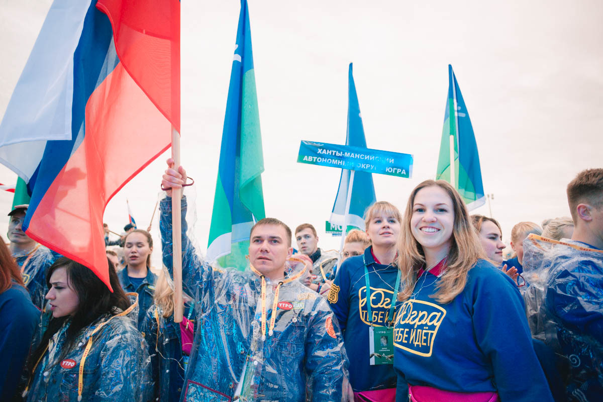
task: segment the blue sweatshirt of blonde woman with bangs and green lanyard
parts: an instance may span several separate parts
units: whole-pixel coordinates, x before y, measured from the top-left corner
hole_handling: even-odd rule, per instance
[[[375,262],[372,247],[364,250],[371,286],[371,310],[373,323],[383,326],[391,306],[391,296],[396,284],[396,266]],[[363,256],[345,260],[329,292],[329,303],[343,330],[344,343],[350,358],[350,384],[356,392],[394,388],[396,373],[393,365],[369,363],[368,324],[366,305],[366,281]]]

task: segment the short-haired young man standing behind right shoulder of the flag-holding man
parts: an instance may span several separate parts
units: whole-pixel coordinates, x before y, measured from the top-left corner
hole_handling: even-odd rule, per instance
[[[335,279],[335,268],[339,253],[334,250],[321,250],[318,247],[318,235],[311,224],[301,224],[295,228],[295,241],[301,254],[312,259],[312,284],[310,288],[320,294],[327,292],[330,281]]]

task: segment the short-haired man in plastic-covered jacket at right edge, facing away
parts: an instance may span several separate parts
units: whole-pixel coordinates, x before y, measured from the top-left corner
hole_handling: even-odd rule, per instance
[[[570,363],[569,400],[593,402],[603,395],[603,169],[580,172],[567,186],[567,201],[572,239],[554,243],[541,259],[550,267],[546,341]]]

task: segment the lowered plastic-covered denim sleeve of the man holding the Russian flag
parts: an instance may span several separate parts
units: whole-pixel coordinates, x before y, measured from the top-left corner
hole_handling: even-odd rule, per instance
[[[349,360],[333,312],[321,298],[308,324],[306,375],[311,401],[340,401]]]

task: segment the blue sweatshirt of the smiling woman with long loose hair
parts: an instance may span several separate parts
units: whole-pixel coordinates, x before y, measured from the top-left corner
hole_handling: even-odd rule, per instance
[[[398,389],[409,383],[453,392],[497,391],[502,402],[553,401],[513,280],[479,260],[463,292],[438,304],[430,297],[437,292],[434,269],[420,275],[411,297],[397,306]],[[407,392],[398,394],[398,401],[408,400]]]

